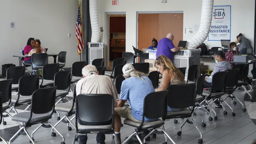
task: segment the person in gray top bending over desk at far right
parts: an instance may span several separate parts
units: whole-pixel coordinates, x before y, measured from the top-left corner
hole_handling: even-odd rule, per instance
[[[247,48],[252,48],[251,42],[248,38],[244,37],[242,33],[239,33],[238,36],[236,36],[235,43],[240,43],[239,46],[239,55],[246,55],[247,54]]]

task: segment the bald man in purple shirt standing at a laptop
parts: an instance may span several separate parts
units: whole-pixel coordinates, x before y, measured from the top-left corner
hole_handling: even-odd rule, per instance
[[[175,47],[172,41],[174,40],[174,35],[172,33],[168,33],[165,38],[162,38],[158,42],[158,49],[156,51],[156,58],[159,55],[164,55],[165,57],[169,58],[173,63],[174,55],[173,52],[177,52],[183,47]]]

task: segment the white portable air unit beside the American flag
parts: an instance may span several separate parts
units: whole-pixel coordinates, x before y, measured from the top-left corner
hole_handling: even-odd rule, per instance
[[[99,42],[89,42],[89,64],[92,64],[92,61],[95,59],[104,58],[104,45]]]

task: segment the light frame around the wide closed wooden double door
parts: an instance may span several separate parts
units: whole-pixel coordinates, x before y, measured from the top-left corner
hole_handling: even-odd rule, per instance
[[[137,22],[136,22],[136,48],[138,48],[138,46],[139,46],[138,45],[138,43],[139,43],[139,41],[138,41],[139,14],[184,14],[184,12],[183,11],[137,11],[136,12],[136,19],[137,19]]]

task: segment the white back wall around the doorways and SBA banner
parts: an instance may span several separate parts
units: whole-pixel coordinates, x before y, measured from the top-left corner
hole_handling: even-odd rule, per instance
[[[214,0],[214,5],[231,5],[231,41],[243,33],[253,44],[255,0]],[[112,6],[111,0],[98,0],[100,26],[105,30],[101,41],[105,43],[105,12],[126,12],[126,51],[133,52],[136,46],[137,11],[183,11],[183,40],[196,32],[185,33],[185,28],[192,28],[200,23],[202,0],[119,0],[118,6]],[[169,32],[166,32],[166,34]],[[219,41],[206,41],[208,48],[221,46]]]

